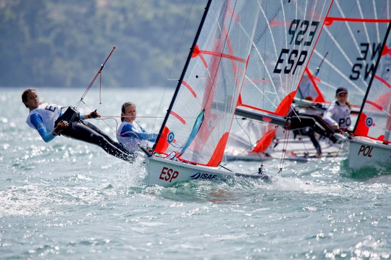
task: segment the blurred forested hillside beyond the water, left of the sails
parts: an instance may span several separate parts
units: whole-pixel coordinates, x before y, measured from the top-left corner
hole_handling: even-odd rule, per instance
[[[206,1],[145,0],[135,16],[141,3],[0,0],[0,86],[86,87],[113,46],[105,86],[162,86],[179,78]]]

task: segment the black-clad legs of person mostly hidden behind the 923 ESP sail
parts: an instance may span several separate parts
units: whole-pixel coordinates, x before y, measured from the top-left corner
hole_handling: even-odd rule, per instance
[[[322,119],[321,116],[311,113],[300,113],[294,104],[288,114],[290,122],[285,126],[286,129],[294,130],[296,135],[308,136],[314,145],[317,153],[316,157],[322,156],[322,148],[319,141],[315,137],[315,132],[319,135],[330,139],[332,142],[337,142],[339,139],[334,130]]]

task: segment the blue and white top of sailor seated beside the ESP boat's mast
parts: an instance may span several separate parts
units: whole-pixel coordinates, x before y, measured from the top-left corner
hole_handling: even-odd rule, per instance
[[[156,137],[156,134],[147,133],[147,131],[145,131],[144,128],[136,122],[130,123],[123,121],[117,131],[118,142],[120,142],[130,152],[139,150],[137,146],[138,143],[147,147],[148,141],[154,142]]]

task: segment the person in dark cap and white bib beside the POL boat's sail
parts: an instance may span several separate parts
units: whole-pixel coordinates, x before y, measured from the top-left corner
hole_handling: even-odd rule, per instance
[[[323,119],[335,132],[344,133],[351,124],[351,105],[348,101],[348,90],[344,87],[339,87],[337,88],[335,96],[337,100],[332,102],[327,108],[326,113],[323,115]]]

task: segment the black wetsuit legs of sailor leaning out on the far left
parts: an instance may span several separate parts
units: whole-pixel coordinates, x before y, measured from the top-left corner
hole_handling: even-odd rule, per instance
[[[55,122],[55,126],[61,120],[65,119],[59,117]],[[108,154],[119,159],[126,161],[131,161],[134,159],[134,154],[127,151],[120,143],[112,140],[95,125],[84,120],[80,120],[78,117],[76,117],[72,122],[69,122],[68,127],[63,129],[60,134],[69,138],[99,145]]]

